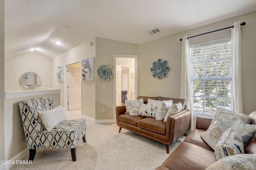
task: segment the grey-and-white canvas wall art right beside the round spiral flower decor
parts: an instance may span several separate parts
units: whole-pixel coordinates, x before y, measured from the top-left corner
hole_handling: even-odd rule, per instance
[[[90,57],[81,61],[82,81],[94,81],[94,58]]]

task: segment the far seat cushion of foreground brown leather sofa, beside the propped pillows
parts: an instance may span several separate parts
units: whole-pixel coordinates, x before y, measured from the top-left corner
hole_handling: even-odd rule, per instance
[[[214,151],[200,136],[202,132],[205,132],[206,130],[202,129],[194,129],[184,140],[184,142],[192,143],[198,146],[201,146],[202,148]]]

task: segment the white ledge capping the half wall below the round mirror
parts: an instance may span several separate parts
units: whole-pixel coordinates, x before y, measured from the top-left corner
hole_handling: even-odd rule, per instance
[[[61,89],[52,89],[52,88],[38,88],[35,90],[27,90],[27,91],[11,91],[4,92],[4,100],[8,99],[16,99],[22,97],[30,97],[30,96],[39,96],[39,95],[49,95],[60,93]]]

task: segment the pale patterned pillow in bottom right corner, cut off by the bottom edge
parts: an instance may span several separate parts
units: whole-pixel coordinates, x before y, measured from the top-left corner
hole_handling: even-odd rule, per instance
[[[222,158],[206,170],[255,170],[256,154],[238,154]]]

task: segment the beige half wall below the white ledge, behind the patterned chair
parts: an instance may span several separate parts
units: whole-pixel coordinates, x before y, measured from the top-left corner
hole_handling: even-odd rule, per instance
[[[36,97],[50,97],[60,105],[60,94],[48,94],[4,100],[5,160],[11,160],[27,148],[18,102]]]

